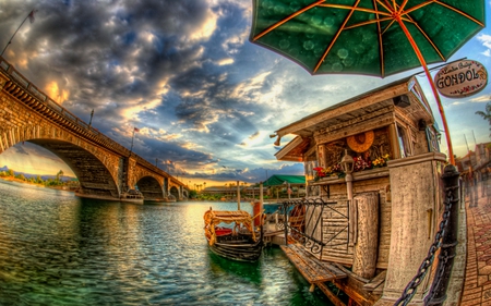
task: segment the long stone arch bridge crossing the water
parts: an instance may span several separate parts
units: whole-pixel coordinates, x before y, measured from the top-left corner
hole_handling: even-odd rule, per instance
[[[82,196],[119,199],[134,186],[146,200],[189,195],[182,182],[92,128],[0,57],[0,154],[21,142],[61,158],[77,176]]]

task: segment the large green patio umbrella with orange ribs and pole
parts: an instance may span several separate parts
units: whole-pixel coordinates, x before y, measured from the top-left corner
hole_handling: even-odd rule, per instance
[[[387,76],[446,61],[484,27],[484,0],[253,0],[250,40],[311,74]]]

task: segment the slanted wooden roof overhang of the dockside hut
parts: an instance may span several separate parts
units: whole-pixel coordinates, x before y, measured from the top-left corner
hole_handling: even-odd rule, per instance
[[[407,96],[406,103],[399,101],[402,96]],[[304,152],[314,143],[315,132],[334,133],[333,131],[338,130],[339,126],[349,125],[352,128],[348,134],[344,132],[343,135],[351,136],[366,132],[363,131],[366,122],[376,121],[383,115],[391,119],[395,112],[415,122],[424,120],[427,125],[434,123],[433,114],[419,83],[415,77],[407,77],[323,109],[277,130],[278,140],[288,134],[297,135],[297,137],[275,154],[276,159],[303,161]]]

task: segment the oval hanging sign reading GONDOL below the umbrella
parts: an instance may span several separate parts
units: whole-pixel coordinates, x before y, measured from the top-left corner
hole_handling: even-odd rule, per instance
[[[442,68],[434,76],[442,96],[460,98],[475,95],[488,84],[488,72],[477,61],[462,60]]]

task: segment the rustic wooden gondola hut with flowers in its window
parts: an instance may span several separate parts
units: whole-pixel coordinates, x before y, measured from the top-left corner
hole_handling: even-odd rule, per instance
[[[440,176],[447,158],[418,81],[308,115],[276,131],[276,144],[289,134],[296,137],[276,158],[304,163],[307,198],[299,242],[282,248],[336,305],[343,303],[327,282],[350,303],[393,305],[428,255],[444,211]],[[430,274],[411,305],[423,304]]]

